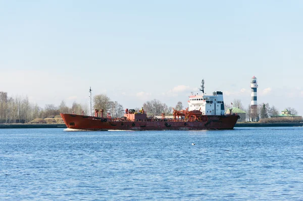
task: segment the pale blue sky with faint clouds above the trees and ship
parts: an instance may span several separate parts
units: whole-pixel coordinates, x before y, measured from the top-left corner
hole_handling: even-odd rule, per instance
[[[124,108],[182,101],[205,79],[225,102],[303,115],[303,1],[0,0],[0,91],[44,107],[105,93]]]

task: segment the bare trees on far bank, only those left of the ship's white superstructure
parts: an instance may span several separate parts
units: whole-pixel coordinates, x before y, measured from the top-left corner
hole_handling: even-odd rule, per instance
[[[161,113],[171,114],[172,107],[154,99],[143,103],[144,111],[147,115],[161,115]],[[182,102],[178,102],[176,109],[183,108]],[[93,97],[92,109],[104,109],[105,116],[110,113],[112,117],[122,117],[124,115],[123,106],[117,101],[112,101],[107,95],[99,94]],[[130,109],[130,108],[129,108]],[[137,111],[139,108],[135,108]],[[0,92],[0,123],[28,123],[37,118],[48,118],[60,115],[60,113],[75,113],[89,115],[88,104],[73,102],[67,106],[62,101],[59,106],[55,104],[45,104],[44,107],[31,103],[27,96],[9,97],[7,92]],[[94,115],[92,111],[92,115]]]

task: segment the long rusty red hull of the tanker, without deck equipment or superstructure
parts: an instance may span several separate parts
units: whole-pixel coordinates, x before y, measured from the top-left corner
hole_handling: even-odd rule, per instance
[[[68,128],[84,130],[205,130],[233,129],[238,115],[204,116],[204,121],[115,121],[94,116],[60,114]]]

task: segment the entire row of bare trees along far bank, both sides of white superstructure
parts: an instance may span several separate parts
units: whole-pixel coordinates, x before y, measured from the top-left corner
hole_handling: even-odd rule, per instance
[[[280,114],[280,111],[275,106],[270,106],[269,103],[261,103],[257,106],[256,114],[252,114],[250,105],[246,108],[240,99],[234,99],[231,104],[224,103],[225,110],[232,107],[237,107],[246,112],[246,119],[257,117],[260,119],[273,118]],[[173,107],[167,106],[165,103],[154,99],[143,103],[142,107],[147,115],[160,116],[162,113],[172,115]],[[105,116],[110,113],[112,117],[122,117],[124,115],[123,106],[117,101],[112,101],[107,95],[99,94],[93,97],[93,109],[104,109]],[[174,107],[176,110],[182,110],[183,104],[179,101]],[[132,108],[128,108],[132,109]],[[139,111],[139,107],[133,108]],[[286,107],[288,111],[297,115],[298,112],[291,107]],[[46,104],[44,107],[38,106],[36,103],[31,103],[27,96],[9,97],[7,92],[0,92],[0,123],[27,123],[36,118],[55,117],[60,113],[75,113],[89,115],[88,104],[80,104],[73,102],[72,106],[66,105],[62,101],[59,106],[54,104]],[[92,111],[93,112],[93,111]],[[92,113],[93,115],[94,113]]]

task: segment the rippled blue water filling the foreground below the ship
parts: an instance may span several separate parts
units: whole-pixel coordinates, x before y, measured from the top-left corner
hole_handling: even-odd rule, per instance
[[[0,200],[167,199],[303,200],[303,127],[0,129]]]

